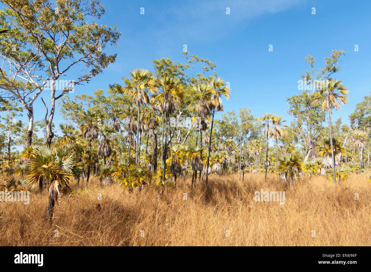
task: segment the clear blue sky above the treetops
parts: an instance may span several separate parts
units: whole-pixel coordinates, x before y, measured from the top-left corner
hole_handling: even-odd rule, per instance
[[[345,67],[335,78],[348,86],[349,103],[334,117],[347,121],[355,104],[370,91],[371,21],[370,1],[101,1],[106,14],[102,22],[117,24],[122,32],[114,64],[74,94],[107,90],[134,68],[153,71],[152,59],[171,58],[184,62],[183,45],[188,52],[216,63],[216,72],[230,82],[231,98],[224,111],[246,107],[256,116],[273,112],[291,120],[286,113],[286,97],[299,94],[300,75],[310,69],[304,57],[315,58],[316,67],[332,49],[347,52]],[[144,7],[144,15],[140,14]],[[226,8],[230,14],[226,14]],[[315,7],[316,14],[312,14]],[[273,52],[268,46],[273,45]],[[359,51],[354,51],[354,45]],[[69,78],[69,76],[68,76]],[[72,98],[74,94],[70,94]],[[49,97],[45,92],[44,98]],[[58,103],[57,103],[58,104]],[[45,117],[40,99],[36,120]],[[222,113],[217,114],[217,118]],[[26,122],[26,118],[24,120]],[[58,113],[54,124],[62,122]]]

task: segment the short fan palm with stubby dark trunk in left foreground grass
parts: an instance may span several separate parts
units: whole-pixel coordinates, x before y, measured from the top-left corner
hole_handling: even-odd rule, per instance
[[[70,189],[70,179],[80,177],[83,163],[78,163],[75,155],[70,154],[66,148],[43,147],[37,151],[36,157],[30,160],[26,168],[25,180],[31,188],[39,184],[40,178],[49,184],[47,219],[51,220],[55,202],[60,194],[67,193]]]

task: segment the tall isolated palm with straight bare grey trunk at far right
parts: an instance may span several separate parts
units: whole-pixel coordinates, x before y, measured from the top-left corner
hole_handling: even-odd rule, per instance
[[[315,98],[313,98],[312,103],[322,103],[321,108],[329,113],[329,130],[330,130],[330,141],[331,141],[331,154],[332,154],[332,171],[333,180],[336,182],[335,174],[335,156],[332,149],[332,123],[331,123],[331,113],[332,109],[340,109],[340,103],[345,105],[348,102],[348,88],[341,81],[337,79],[328,79],[321,83],[319,91],[314,93]]]

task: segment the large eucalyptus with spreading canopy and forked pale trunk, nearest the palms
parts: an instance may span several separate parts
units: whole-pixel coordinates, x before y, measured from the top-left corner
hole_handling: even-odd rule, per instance
[[[71,92],[76,85],[88,82],[116,59],[102,51],[117,45],[121,35],[116,26],[97,23],[104,7],[97,0],[81,1],[13,1],[3,0],[0,25],[10,31],[0,36],[0,48],[6,68],[12,67],[12,81],[29,82],[39,95],[49,89],[50,111],[46,121],[46,144],[54,133],[52,122],[55,101]],[[9,50],[16,46],[16,50]],[[97,50],[98,48],[98,50]],[[81,74],[71,72],[80,66]],[[5,68],[5,67],[4,67]],[[68,76],[69,80],[61,80]],[[59,95],[56,92],[59,91]],[[30,111],[31,107],[26,109]]]

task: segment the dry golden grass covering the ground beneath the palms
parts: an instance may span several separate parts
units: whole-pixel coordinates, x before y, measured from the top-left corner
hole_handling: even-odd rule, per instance
[[[73,184],[76,188],[76,184]],[[58,201],[45,219],[47,192],[29,205],[1,202],[0,245],[19,246],[369,246],[371,185],[354,174],[340,185],[304,177],[293,186],[270,174],[210,177],[209,189],[178,179],[161,197],[148,186],[128,194],[98,180]],[[286,191],[286,203],[254,201],[254,192]],[[98,193],[102,199],[98,200]],[[187,193],[187,200],[183,194]],[[354,194],[359,194],[359,200]],[[98,205],[99,203],[99,205]],[[100,207],[99,207],[100,206]],[[55,230],[59,237],[55,237]],[[144,237],[141,237],[144,230]],[[226,237],[226,231],[230,237]],[[312,237],[312,230],[316,236]]]

